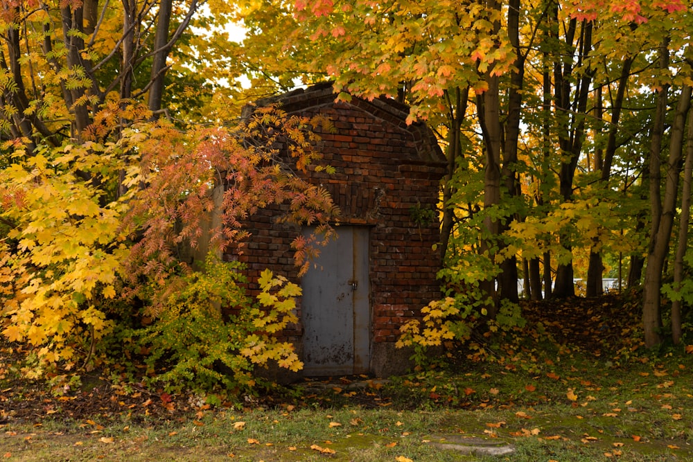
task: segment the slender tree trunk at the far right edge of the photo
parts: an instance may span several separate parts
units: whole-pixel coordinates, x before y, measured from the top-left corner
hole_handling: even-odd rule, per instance
[[[678,244],[674,259],[674,287],[680,289],[684,277],[683,258],[688,247],[688,222],[691,207],[691,180],[693,177],[693,111],[688,113],[688,130],[686,133],[686,162],[683,168],[683,189],[681,190],[681,218],[678,223]],[[681,343],[681,299],[672,301],[672,341]]]

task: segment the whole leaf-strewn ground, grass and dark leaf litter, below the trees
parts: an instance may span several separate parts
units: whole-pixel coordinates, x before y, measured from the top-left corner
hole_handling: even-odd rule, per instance
[[[615,296],[525,303],[525,328],[453,365],[220,407],[98,375],[57,394],[0,345],[0,459],[693,461],[693,346],[644,350],[638,312]]]

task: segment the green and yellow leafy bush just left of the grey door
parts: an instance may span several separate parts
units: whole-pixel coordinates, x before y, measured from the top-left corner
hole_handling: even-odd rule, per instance
[[[204,271],[183,277],[182,290],[168,296],[154,322],[132,330],[139,348],[149,352],[151,382],[169,393],[227,395],[253,387],[254,367],[270,360],[292,371],[302,367],[292,344],[274,336],[297,321],[301,288],[266,269],[253,303],[242,270],[241,263],[207,258]],[[235,307],[234,313],[222,306]]]

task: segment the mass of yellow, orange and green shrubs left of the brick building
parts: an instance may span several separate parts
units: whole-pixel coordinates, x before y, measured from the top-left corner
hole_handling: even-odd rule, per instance
[[[127,107],[120,115],[147,114]],[[104,117],[82,144],[40,146],[31,155],[19,144],[0,174],[2,333],[32,346],[27,376],[101,364],[103,345],[123,329],[151,352],[152,371],[162,355],[180,363],[161,380],[193,381],[200,370],[219,378],[218,361],[235,371],[239,386],[249,383],[240,377],[252,364],[268,359],[296,369],[292,347],[267,335],[295,321],[299,287],[263,274],[262,309],[252,308],[237,264],[212,259],[200,273],[182,256],[200,245],[203,222],[215,214],[220,219],[205,228],[209,256],[240,242],[243,221],[269,204],[291,204],[283,220],[325,225],[333,218],[328,195],[295,175],[316,156],[304,127],[324,121],[273,108],[229,129],[179,130],[139,119],[115,141],[99,135],[112,129]],[[295,246],[302,255],[304,245]],[[241,314],[222,319],[220,306]],[[194,364],[195,373],[182,363]]]

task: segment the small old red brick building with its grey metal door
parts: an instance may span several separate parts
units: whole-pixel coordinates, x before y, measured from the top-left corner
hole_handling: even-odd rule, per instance
[[[409,353],[394,348],[399,327],[440,296],[432,249],[439,222],[423,212],[435,211],[446,166],[435,136],[423,123],[407,125],[408,108],[394,100],[335,103],[331,85],[277,100],[289,114],[320,113],[333,123],[318,150],[336,171],[312,172],[309,181],[340,207],[338,238],[299,280],[290,242],[310,229],[279,224],[278,211],[267,209],[254,215],[241,260],[251,278],[268,267],[301,284],[301,323],[284,334],[304,375],[401,373],[410,364]]]

